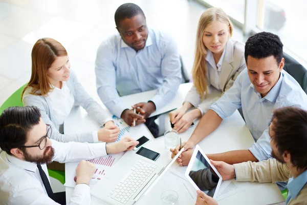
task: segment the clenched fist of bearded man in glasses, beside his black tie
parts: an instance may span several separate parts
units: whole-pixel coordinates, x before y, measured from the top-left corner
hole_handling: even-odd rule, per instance
[[[82,160],[76,168],[76,185],[86,183],[89,185],[95,171],[95,165],[92,162]]]

